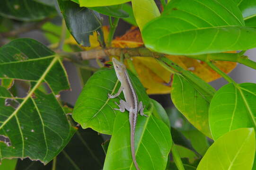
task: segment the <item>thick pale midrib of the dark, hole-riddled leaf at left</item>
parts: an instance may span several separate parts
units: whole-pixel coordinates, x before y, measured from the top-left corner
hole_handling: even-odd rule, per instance
[[[37,87],[44,81],[45,76],[49,73],[49,71],[51,70],[51,68],[53,67],[53,65],[55,64],[55,62],[58,60],[58,57],[53,58],[53,60],[51,61],[51,63],[49,64],[49,66],[45,69],[43,75],[38,79],[37,83],[35,84],[35,86],[31,89],[31,91],[27,94],[27,96],[24,98],[24,100],[20,103],[20,105],[18,106],[18,108],[9,116],[8,119],[6,119],[2,125],[0,126],[0,129],[3,128],[6,123],[9,122],[9,120],[17,115],[18,111],[22,108],[22,106],[26,103],[26,101],[32,96],[32,94],[35,92],[35,90],[37,89]]]

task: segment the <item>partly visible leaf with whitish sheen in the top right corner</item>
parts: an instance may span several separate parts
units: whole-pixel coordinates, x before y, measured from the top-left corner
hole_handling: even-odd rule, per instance
[[[234,0],[241,10],[246,26],[256,26],[255,0]]]

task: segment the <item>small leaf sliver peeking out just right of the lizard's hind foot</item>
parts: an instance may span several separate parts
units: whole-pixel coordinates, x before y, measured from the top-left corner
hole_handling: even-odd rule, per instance
[[[163,106],[161,106],[159,102],[153,99],[150,99],[150,101],[154,106],[153,115],[159,119],[162,119],[162,121],[167,125],[167,127],[170,128],[171,127],[170,120]]]

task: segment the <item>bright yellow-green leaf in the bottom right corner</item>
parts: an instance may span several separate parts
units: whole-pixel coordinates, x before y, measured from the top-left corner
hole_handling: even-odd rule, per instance
[[[255,156],[253,128],[240,128],[217,139],[197,170],[251,170]]]

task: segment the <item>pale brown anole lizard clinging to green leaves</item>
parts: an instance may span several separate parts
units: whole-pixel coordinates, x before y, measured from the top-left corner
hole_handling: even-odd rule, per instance
[[[128,72],[124,66],[123,63],[119,62],[117,59],[113,58],[113,66],[115,68],[115,74],[118,78],[118,80],[121,82],[121,86],[118,90],[118,92],[114,95],[108,94],[109,98],[115,98],[120,95],[121,92],[124,93],[124,100],[120,100],[119,109],[121,112],[124,112],[125,109],[129,111],[129,121],[131,126],[131,150],[132,150],[132,161],[134,163],[134,166],[136,167],[136,170],[140,170],[138,163],[136,161],[135,157],[135,149],[134,149],[134,134],[135,134],[135,126],[136,126],[136,119],[137,119],[137,113],[140,111],[141,116],[146,116],[143,113],[143,104],[142,102],[138,101],[138,96],[132,86],[132,82],[129,78]]]

